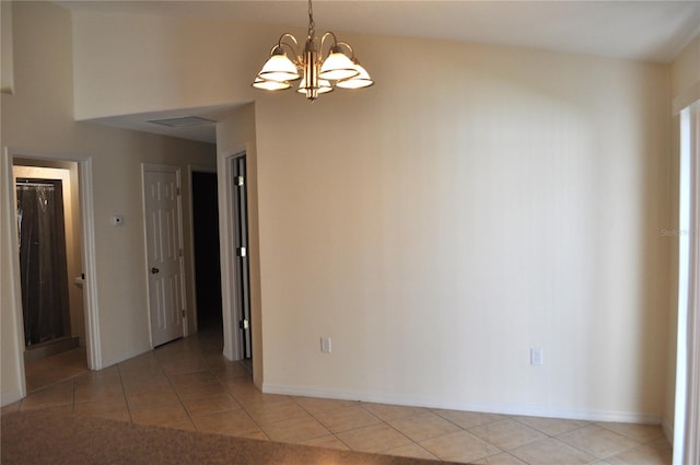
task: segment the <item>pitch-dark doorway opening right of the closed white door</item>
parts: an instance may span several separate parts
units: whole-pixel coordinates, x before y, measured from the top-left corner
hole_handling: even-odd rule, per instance
[[[192,172],[197,328],[223,330],[217,173]]]

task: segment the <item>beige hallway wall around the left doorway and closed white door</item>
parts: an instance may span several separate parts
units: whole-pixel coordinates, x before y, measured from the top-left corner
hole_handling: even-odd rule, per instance
[[[2,95],[2,141],[21,153],[47,153],[69,160],[91,158],[94,183],[97,307],[102,365],[149,350],[147,275],[144,258],[141,163],[177,165],[183,170],[183,191],[189,191],[188,164],[215,166],[211,144],[171,139],[135,131],[74,123],[72,92],[72,40],[70,13],[56,4],[13,4],[14,95]],[[9,221],[10,175],[5,165],[0,185],[3,221],[2,254],[2,404],[22,392],[20,304],[12,290],[14,253]],[[188,214],[189,199],[183,199]],[[124,214],[125,225],[110,224]],[[7,218],[5,218],[7,217]],[[186,217],[185,217],[186,218]],[[4,221],[8,219],[8,221]],[[189,222],[184,223],[185,244]],[[186,251],[185,257],[190,257]],[[188,259],[188,258],[187,258]],[[191,269],[191,264],[186,263]],[[7,277],[7,279],[5,279]],[[188,295],[188,309],[192,309]],[[189,312],[190,326],[194,315]]]

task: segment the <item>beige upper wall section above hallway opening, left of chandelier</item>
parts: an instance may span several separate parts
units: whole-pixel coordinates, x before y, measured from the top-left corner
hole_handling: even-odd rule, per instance
[[[82,11],[74,14],[73,34],[74,111],[83,120],[250,102],[250,69],[262,66],[279,30]]]

